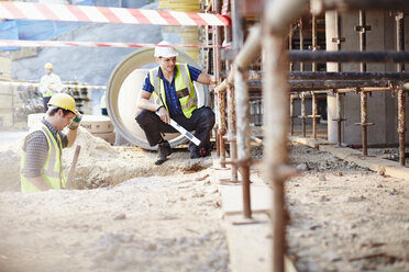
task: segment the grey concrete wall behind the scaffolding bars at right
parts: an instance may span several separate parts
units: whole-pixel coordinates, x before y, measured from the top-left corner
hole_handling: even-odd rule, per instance
[[[345,37],[342,43],[342,50],[360,50],[360,36],[355,32],[358,25],[358,12],[342,13],[341,36]],[[406,48],[409,48],[409,19],[405,22]],[[390,16],[388,11],[367,11],[366,25],[371,25],[371,31],[366,34],[367,50],[395,50],[396,31],[395,16]],[[336,44],[332,43],[332,37],[336,36],[335,12],[325,14],[327,49],[338,50]],[[328,71],[336,71],[336,64],[328,64]],[[360,64],[343,64],[342,71],[360,71]],[[396,71],[394,64],[367,64],[367,71]],[[342,97],[343,117],[342,141],[347,145],[362,144],[362,128],[355,123],[361,122],[361,99],[360,94],[347,93]],[[368,122],[375,123],[368,127],[368,145],[397,144],[397,99],[390,92],[374,92],[368,95]],[[407,99],[409,109],[409,99]],[[335,97],[328,95],[328,137],[329,140],[336,143],[336,122],[332,120],[336,116]],[[409,111],[407,112],[409,120]],[[409,143],[409,134],[406,135]]]

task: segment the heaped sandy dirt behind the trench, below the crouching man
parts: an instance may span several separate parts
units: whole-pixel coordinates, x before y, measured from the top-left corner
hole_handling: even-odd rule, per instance
[[[20,190],[20,160],[22,141],[0,145],[0,191]],[[136,177],[183,174],[208,168],[209,157],[190,160],[187,151],[177,151],[162,166],[155,166],[157,154],[139,147],[111,146],[79,127],[76,143],[63,150],[63,166],[68,173],[76,146],[81,147],[73,185],[75,189],[96,189],[119,184]]]

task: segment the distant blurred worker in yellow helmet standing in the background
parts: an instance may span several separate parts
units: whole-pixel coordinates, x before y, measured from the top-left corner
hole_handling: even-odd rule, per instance
[[[62,92],[64,87],[62,87],[62,80],[59,77],[53,72],[53,65],[51,63],[44,65],[44,70],[45,75],[40,81],[42,84],[40,87],[40,92],[43,95],[44,112],[46,112],[49,99],[53,94]]]

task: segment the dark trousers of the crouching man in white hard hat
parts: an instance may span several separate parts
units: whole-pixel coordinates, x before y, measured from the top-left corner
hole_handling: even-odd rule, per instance
[[[172,117],[186,131],[195,131],[195,136],[201,141],[199,147],[203,147],[210,140],[210,132],[214,126],[214,113],[208,106],[196,109],[190,118],[185,115]],[[178,133],[170,125],[164,123],[156,113],[143,110],[137,116],[136,122],[145,132],[150,146],[155,146],[161,140],[161,133]],[[194,145],[190,143],[190,145]]]

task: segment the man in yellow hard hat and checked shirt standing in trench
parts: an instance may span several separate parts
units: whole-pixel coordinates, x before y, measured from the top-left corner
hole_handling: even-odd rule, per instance
[[[73,97],[66,93],[53,95],[41,126],[24,138],[20,165],[22,192],[65,188],[62,151],[74,145],[81,121],[81,114],[75,107]],[[62,131],[67,125],[69,129],[65,134]]]

